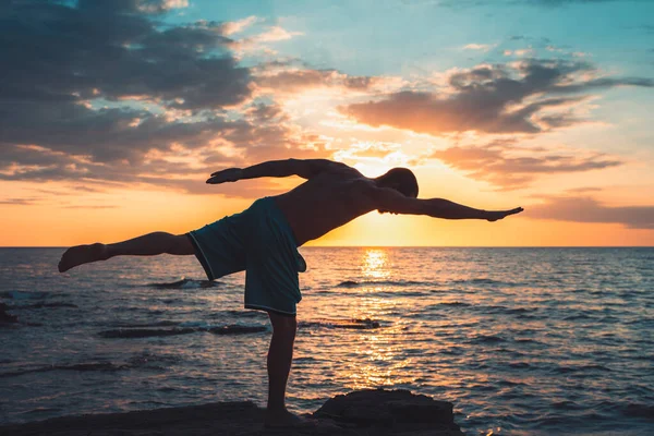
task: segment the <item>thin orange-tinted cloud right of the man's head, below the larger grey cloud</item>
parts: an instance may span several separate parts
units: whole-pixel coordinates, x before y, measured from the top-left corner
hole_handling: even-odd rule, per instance
[[[544,174],[583,172],[621,165],[602,154],[580,156],[557,154],[545,149],[518,149],[512,141],[486,146],[456,146],[432,154],[432,158],[465,172],[469,177],[489,182],[502,190],[528,186]]]

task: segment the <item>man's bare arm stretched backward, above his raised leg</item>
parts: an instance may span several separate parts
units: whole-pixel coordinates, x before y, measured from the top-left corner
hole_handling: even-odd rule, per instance
[[[300,175],[303,179],[311,179],[323,171],[329,171],[342,164],[334,162],[327,159],[286,159],[269,160],[267,162],[253,165],[247,168],[228,168],[216,171],[211,174],[207,183],[218,184],[225,182],[235,182],[237,180],[257,179],[262,177],[289,177]]]

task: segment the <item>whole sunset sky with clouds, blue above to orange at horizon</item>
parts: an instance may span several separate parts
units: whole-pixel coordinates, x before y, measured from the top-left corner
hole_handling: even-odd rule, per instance
[[[194,230],[289,157],[525,209],[314,245],[654,245],[654,1],[9,1],[0,59],[2,246]]]

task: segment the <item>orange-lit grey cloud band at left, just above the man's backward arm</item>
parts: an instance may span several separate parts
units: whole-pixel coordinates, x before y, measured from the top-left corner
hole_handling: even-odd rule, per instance
[[[108,111],[105,119],[97,120],[97,130],[78,131],[74,125],[70,131],[65,125],[41,129],[39,136],[32,135],[38,146],[0,140],[0,180],[77,180],[98,186],[107,182],[147,183],[208,193],[198,181],[220,168],[326,155],[317,136],[283,120],[279,107],[263,104],[250,107],[241,120],[216,118],[194,123],[169,123],[162,117],[150,116],[132,125],[121,119],[120,112]],[[25,129],[17,133],[29,134]],[[16,132],[0,131],[0,135],[10,134]],[[213,146],[215,143],[221,147]]]

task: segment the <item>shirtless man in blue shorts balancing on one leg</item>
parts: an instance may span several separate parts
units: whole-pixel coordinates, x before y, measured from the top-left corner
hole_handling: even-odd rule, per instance
[[[219,184],[262,177],[306,179],[290,192],[257,199],[242,211],[199,230],[173,235],[155,232],[116,244],[78,245],[59,263],[61,272],[82,264],[119,255],[194,254],[209,280],[246,271],[245,307],[268,313],[272,339],[268,351],[267,426],[294,425],[301,420],[286,409],[286,386],[295,339],[295,304],[300,302],[298,271],[304,259],[298,247],[372,210],[427,215],[445,219],[496,221],[522,211],[486,211],[447,199],[417,198],[417,182],[404,168],[375,179],[344,164],[324,159],[276,160],[211,174]]]

